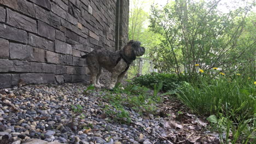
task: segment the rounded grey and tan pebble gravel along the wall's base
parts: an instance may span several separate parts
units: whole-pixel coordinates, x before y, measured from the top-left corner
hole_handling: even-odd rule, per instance
[[[184,129],[170,118],[141,117],[129,108],[131,124],[114,122],[104,113],[104,92],[85,95],[84,89],[83,83],[1,89],[0,143],[175,143],[177,129]],[[74,116],[72,105],[81,105],[85,116]]]

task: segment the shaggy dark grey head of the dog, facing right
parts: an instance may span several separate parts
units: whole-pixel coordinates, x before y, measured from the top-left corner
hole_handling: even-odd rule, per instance
[[[141,42],[130,40],[123,49],[123,54],[126,58],[133,61],[136,56],[142,56],[145,53],[145,48],[141,47]]]

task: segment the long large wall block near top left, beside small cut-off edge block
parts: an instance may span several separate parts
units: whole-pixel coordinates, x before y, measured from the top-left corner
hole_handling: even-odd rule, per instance
[[[7,9],[7,23],[11,26],[37,33],[37,22],[25,15]]]

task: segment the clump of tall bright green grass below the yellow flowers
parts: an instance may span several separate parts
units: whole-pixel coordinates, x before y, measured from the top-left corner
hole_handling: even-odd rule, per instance
[[[197,81],[183,82],[177,97],[191,110],[207,118],[223,143],[243,143],[255,137],[256,89],[247,75],[214,75],[216,70],[199,74]],[[211,72],[211,73],[208,73]],[[230,130],[233,137],[229,137]]]

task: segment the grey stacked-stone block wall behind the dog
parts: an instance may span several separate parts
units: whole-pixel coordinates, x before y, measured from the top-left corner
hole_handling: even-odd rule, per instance
[[[127,41],[129,0],[121,15]],[[117,0],[0,0],[0,88],[88,81],[80,56],[115,50]],[[108,73],[105,73],[108,75]]]

